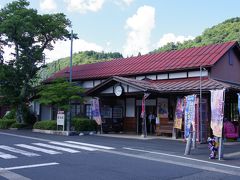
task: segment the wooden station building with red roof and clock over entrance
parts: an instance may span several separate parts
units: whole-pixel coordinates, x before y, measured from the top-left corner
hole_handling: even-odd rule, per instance
[[[69,67],[55,73],[47,82],[68,78],[66,72]],[[217,89],[225,89],[224,117],[239,126],[240,47],[237,42],[78,65],[72,69],[72,79],[86,89],[84,105],[73,103],[72,114],[91,117],[91,99],[98,97],[102,119],[112,131],[119,131],[114,129],[114,124],[120,122],[120,131],[142,133],[142,99],[147,93],[146,114],[160,117],[160,135],[172,136],[177,98],[195,94],[197,140],[206,141],[211,133],[210,91]],[[53,119],[56,113],[50,106],[38,108],[42,120]],[[182,137],[182,131],[175,136]]]

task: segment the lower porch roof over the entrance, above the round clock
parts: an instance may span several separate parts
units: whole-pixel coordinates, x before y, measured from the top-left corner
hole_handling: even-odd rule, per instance
[[[127,85],[137,90],[136,93],[198,93],[200,91],[200,78],[167,79],[167,80],[137,80],[120,76],[113,76],[86,92],[87,96],[98,96],[101,91],[115,84]],[[202,78],[201,91],[209,93],[210,90],[226,89],[240,91],[240,84]]]

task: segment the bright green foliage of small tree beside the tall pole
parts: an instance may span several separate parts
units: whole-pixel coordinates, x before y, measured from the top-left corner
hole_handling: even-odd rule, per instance
[[[64,78],[59,78],[51,84],[39,88],[39,102],[45,105],[56,105],[61,110],[68,110],[69,100],[82,102],[84,90],[76,83],[70,83]]]

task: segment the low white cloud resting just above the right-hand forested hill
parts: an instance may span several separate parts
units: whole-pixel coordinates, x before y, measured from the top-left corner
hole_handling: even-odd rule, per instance
[[[180,42],[180,43],[183,43],[184,41],[187,41],[187,40],[192,40],[194,39],[193,36],[177,36],[173,33],[167,33],[167,34],[164,34],[162,36],[162,38],[158,41],[157,43],[157,47],[162,47],[164,45],[166,45],[167,43],[170,43],[170,42],[173,42],[173,43],[177,43],[177,42]]]

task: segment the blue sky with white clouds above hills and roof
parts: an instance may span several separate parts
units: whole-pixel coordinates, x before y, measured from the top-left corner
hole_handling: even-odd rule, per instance
[[[10,0],[1,0],[4,7]],[[226,19],[240,16],[239,0],[29,0],[40,14],[64,13],[78,34],[73,52],[146,54],[168,42],[194,39]],[[10,50],[6,50],[6,54]],[[70,56],[70,42],[57,42],[46,61]]]

